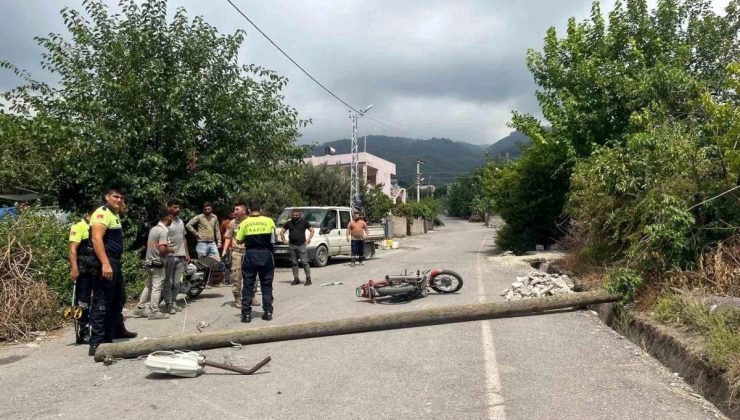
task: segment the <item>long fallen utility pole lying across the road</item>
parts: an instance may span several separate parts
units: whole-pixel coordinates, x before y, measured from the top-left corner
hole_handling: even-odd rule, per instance
[[[571,293],[513,302],[476,303],[346,318],[335,321],[275,325],[270,327],[108,343],[101,344],[98,347],[98,350],[95,352],[95,361],[101,362],[106,356],[113,358],[139,357],[158,350],[204,350],[231,347],[233,343],[245,345],[258,344],[369,331],[422,327],[426,325],[479,321],[527,315],[554,309],[583,307],[597,303],[615,302],[617,300],[619,300],[619,296],[604,291]]]

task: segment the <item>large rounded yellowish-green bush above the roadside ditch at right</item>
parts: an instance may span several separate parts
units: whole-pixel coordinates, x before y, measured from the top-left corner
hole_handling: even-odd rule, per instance
[[[734,197],[691,204],[729,189],[734,176],[697,133],[666,126],[630,136],[579,163],[567,213],[578,222],[585,255],[625,261],[643,272],[694,265],[701,250],[740,224]],[[597,258],[598,259],[598,258]]]

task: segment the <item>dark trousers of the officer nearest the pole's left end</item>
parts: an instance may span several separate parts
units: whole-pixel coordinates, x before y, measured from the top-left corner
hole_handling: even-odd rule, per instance
[[[113,337],[123,330],[123,304],[126,289],[123,285],[121,260],[110,258],[113,277],[96,276],[92,282],[93,300],[90,311],[90,345],[112,343]]]

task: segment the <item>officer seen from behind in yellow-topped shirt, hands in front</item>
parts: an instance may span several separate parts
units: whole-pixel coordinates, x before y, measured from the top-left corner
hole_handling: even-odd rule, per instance
[[[272,319],[272,279],[275,276],[275,261],[272,257],[272,238],[275,222],[262,216],[262,203],[254,201],[249,207],[249,217],[239,223],[236,242],[245,247],[242,260],[242,322],[252,321],[252,298],[254,282],[259,275],[262,286],[262,319]]]

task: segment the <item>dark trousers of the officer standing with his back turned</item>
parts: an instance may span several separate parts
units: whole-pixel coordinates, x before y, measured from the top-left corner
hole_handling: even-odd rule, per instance
[[[272,279],[275,260],[269,249],[247,249],[242,258],[242,311],[252,310],[254,282],[259,275],[262,287],[262,309],[272,312]]]

